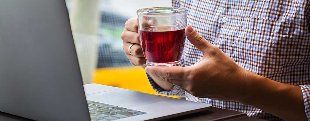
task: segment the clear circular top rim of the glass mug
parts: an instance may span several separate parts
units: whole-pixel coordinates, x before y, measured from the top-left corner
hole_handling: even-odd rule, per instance
[[[171,11],[171,12],[151,12],[151,11]],[[179,14],[186,13],[187,9],[181,7],[150,7],[150,8],[142,8],[137,10],[137,14],[144,15],[169,15],[169,14]]]

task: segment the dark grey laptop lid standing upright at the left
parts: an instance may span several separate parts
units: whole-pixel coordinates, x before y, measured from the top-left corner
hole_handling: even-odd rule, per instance
[[[0,111],[90,120],[64,0],[1,0]]]

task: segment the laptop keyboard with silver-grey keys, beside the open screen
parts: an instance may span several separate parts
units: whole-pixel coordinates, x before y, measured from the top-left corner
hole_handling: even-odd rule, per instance
[[[146,114],[145,112],[138,110],[131,110],[123,107],[108,105],[89,100],[87,100],[87,105],[89,115],[91,116],[91,121],[110,121],[135,115]]]

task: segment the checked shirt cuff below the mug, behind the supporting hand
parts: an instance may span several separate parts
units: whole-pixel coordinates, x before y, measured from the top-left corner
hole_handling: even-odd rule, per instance
[[[151,78],[151,76],[146,73],[146,76],[148,77],[148,82],[150,83],[151,87],[158,93],[158,94],[165,94],[165,95],[175,95],[182,97],[185,95],[185,91],[180,89],[178,86],[173,85],[172,89],[170,91],[166,91],[165,89],[162,89],[156,82]]]

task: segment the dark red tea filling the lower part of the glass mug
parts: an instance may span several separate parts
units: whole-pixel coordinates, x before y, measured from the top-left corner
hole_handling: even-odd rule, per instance
[[[150,26],[139,32],[145,59],[150,63],[177,62],[185,43],[184,27],[182,26]]]

